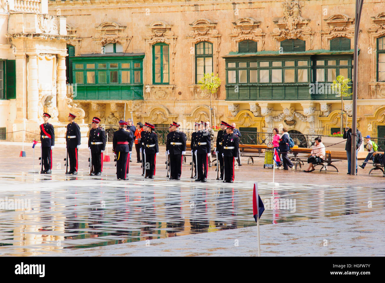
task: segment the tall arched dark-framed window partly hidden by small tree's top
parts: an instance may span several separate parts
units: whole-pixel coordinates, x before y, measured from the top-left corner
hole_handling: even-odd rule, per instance
[[[204,74],[213,72],[213,44],[199,42],[195,45],[195,83],[203,78]]]

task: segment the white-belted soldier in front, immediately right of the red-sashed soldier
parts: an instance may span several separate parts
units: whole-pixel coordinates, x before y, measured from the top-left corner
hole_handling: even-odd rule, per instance
[[[145,178],[154,179],[155,167],[156,167],[156,156],[159,154],[158,147],[158,135],[155,133],[155,126],[153,124],[147,123],[147,128],[149,133],[146,136],[146,141],[144,150],[146,154],[146,176]]]

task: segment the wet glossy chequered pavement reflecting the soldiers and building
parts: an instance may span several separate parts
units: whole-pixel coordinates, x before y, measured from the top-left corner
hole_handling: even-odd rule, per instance
[[[3,174],[0,179],[5,185],[0,191],[0,255],[54,255],[63,248],[256,225],[252,181],[203,184],[187,178],[144,180],[139,175],[116,181],[113,175],[82,174]],[[373,212],[385,206],[383,188],[281,184],[271,189],[267,183],[258,187],[266,206],[261,224]],[[17,199],[25,200],[25,206],[15,208]]]

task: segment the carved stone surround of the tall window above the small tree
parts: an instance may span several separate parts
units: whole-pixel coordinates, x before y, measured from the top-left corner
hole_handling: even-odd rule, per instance
[[[190,43],[190,60],[191,66],[195,65],[195,45],[199,42],[207,41],[213,44],[213,73],[214,75],[219,73],[219,52],[221,44],[221,36],[218,33],[218,30],[215,29],[217,22],[212,22],[211,20],[200,18],[195,20],[190,24],[192,31],[189,32],[189,35],[186,36],[186,39]],[[190,82],[195,84],[195,72],[191,70],[190,72]]]

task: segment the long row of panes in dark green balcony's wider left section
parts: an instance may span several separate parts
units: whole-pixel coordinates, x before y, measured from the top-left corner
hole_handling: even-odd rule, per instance
[[[308,83],[310,59],[261,59],[228,62],[228,84]]]

